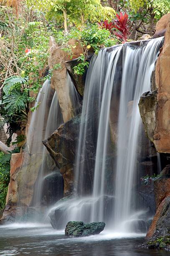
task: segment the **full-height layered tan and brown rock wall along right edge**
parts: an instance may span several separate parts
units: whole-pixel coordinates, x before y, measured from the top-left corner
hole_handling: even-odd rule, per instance
[[[152,74],[152,92],[142,95],[139,108],[147,136],[162,153],[165,168],[154,182],[156,214],[147,232],[151,240],[144,246],[167,248],[166,243],[164,247],[157,243],[157,237],[170,236],[170,13],[160,19],[156,30],[166,30],[165,42]]]

